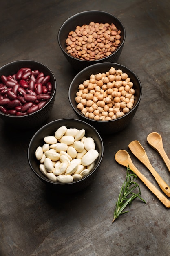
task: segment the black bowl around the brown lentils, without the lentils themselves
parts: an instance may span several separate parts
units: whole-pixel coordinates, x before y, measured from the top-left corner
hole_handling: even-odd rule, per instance
[[[78,58],[72,57],[66,51],[66,38],[68,36],[68,33],[70,31],[74,31],[77,25],[79,26],[82,26],[84,24],[88,25],[92,21],[99,22],[99,23],[109,23],[109,24],[113,23],[117,27],[117,29],[121,31],[121,43],[119,47],[110,56],[107,56],[99,60],[85,61],[85,60],[80,60]],[[88,67],[89,65],[93,65],[95,63],[117,62],[124,46],[125,34],[126,33],[125,33],[124,25],[113,14],[107,13],[105,11],[98,11],[98,10],[83,11],[71,16],[62,24],[58,32],[58,43],[64,56],[69,61],[69,63],[75,68],[75,70],[80,71],[85,67]]]

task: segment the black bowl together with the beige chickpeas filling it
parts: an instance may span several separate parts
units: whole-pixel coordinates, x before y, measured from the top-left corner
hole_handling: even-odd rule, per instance
[[[76,115],[102,134],[113,134],[128,126],[141,95],[137,75],[117,63],[86,67],[75,76],[68,91]]]

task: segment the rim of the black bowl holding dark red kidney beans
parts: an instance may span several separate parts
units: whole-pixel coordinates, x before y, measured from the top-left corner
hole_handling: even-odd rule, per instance
[[[50,72],[51,72],[51,74],[53,75],[53,79],[54,79],[54,91],[53,91],[53,94],[51,95],[51,97],[50,97],[50,99],[47,101],[47,103],[42,107],[42,108],[40,108],[39,110],[37,110],[37,111],[35,111],[35,112],[33,112],[33,113],[31,113],[31,114],[27,114],[27,115],[24,115],[24,116],[13,116],[13,115],[7,115],[7,114],[5,114],[5,113],[3,113],[2,111],[0,111],[0,115],[2,115],[2,116],[4,116],[4,117],[9,117],[10,119],[25,119],[26,117],[30,117],[30,116],[32,116],[32,115],[34,115],[35,113],[38,113],[38,112],[40,112],[41,110],[43,110],[44,108],[46,108],[46,105],[48,104],[48,103],[50,103],[52,100],[53,100],[53,96],[54,96],[54,94],[56,93],[56,88],[57,88],[57,82],[56,82],[56,79],[55,79],[55,75],[54,75],[54,73],[52,72],[52,70],[49,68],[49,67],[47,67],[44,63],[41,63],[40,61],[35,61],[35,60],[29,60],[29,59],[23,59],[23,60],[16,60],[16,61],[11,61],[11,62],[9,62],[9,63],[6,63],[6,64],[4,64],[4,65],[2,65],[1,67],[0,67],[0,69],[1,68],[5,68],[5,67],[8,67],[8,65],[12,65],[12,64],[15,64],[15,63],[21,63],[21,62],[33,62],[33,63],[35,63],[35,64],[40,64],[40,65],[42,65],[42,66],[44,66],[47,70],[49,70]]]

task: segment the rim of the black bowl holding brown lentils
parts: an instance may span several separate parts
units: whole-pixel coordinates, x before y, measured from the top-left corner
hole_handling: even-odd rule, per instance
[[[89,12],[91,12],[91,13],[93,13],[93,12],[96,12],[96,13],[99,12],[99,13],[101,13],[101,14],[102,14],[102,13],[105,13],[105,14],[108,14],[108,15],[110,15],[110,16],[113,16],[113,18],[115,18],[115,19],[121,24],[121,27],[123,28],[123,31],[124,31],[124,38],[123,38],[121,44],[119,45],[119,47],[115,50],[115,52],[113,52],[113,53],[110,54],[109,56],[106,56],[106,57],[104,57],[104,58],[102,58],[102,59],[93,60],[93,61],[81,60],[81,59],[79,59],[79,58],[74,58],[73,56],[71,56],[70,54],[68,54],[68,52],[62,47],[62,44],[60,43],[60,33],[61,33],[61,30],[62,30],[62,27],[64,27],[64,25],[66,24],[66,22],[68,22],[68,21],[71,22],[72,18],[74,18],[74,17],[77,16],[77,15],[86,14],[86,13],[89,13]],[[119,18],[117,18],[117,17],[116,17],[115,15],[113,15],[112,13],[109,13],[109,12],[107,12],[107,11],[101,11],[101,10],[81,11],[81,12],[78,12],[78,13],[73,14],[73,15],[70,16],[68,19],[66,19],[66,20],[63,22],[63,24],[60,26],[60,29],[59,29],[59,31],[58,31],[58,36],[57,36],[58,44],[59,44],[60,48],[62,49],[62,51],[64,52],[64,54],[66,54],[68,57],[70,57],[70,58],[73,59],[73,60],[79,61],[80,63],[81,63],[81,62],[82,62],[82,63],[84,63],[84,62],[85,62],[85,63],[92,63],[92,62],[93,62],[93,63],[98,63],[99,61],[102,61],[103,59],[104,59],[105,61],[107,61],[111,56],[113,56],[114,54],[116,54],[117,51],[120,50],[120,49],[124,46],[125,38],[126,38],[126,30],[125,30],[125,27],[124,27],[124,24],[122,23],[122,21],[119,20]]]

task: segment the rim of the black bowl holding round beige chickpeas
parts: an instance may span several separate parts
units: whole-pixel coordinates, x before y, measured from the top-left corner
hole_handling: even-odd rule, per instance
[[[129,111],[128,113],[126,113],[125,115],[123,115],[122,117],[118,117],[118,118],[113,119],[113,120],[105,120],[105,121],[102,121],[102,120],[94,120],[94,119],[90,119],[90,118],[88,118],[88,117],[85,117],[85,115],[83,115],[77,108],[74,107],[74,105],[73,105],[73,103],[72,103],[72,101],[71,101],[71,86],[73,85],[73,83],[74,83],[74,81],[77,79],[77,77],[78,77],[78,76],[81,76],[81,74],[82,74],[84,71],[86,71],[86,70],[91,70],[91,69],[93,69],[93,67],[102,66],[102,65],[110,65],[110,67],[111,67],[111,66],[114,67],[114,65],[118,65],[120,68],[123,67],[124,69],[127,69],[129,72],[131,72],[131,73],[137,78],[137,80],[139,81],[140,94],[139,94],[139,99],[137,100],[136,105],[135,105],[134,107],[132,107],[132,108],[130,109],[130,111]],[[93,64],[93,65],[91,65],[91,66],[85,67],[83,70],[81,70],[80,72],[78,72],[78,73],[75,75],[75,77],[74,77],[73,80],[71,81],[71,84],[70,84],[70,86],[69,86],[69,88],[68,88],[68,100],[69,100],[69,102],[70,102],[70,104],[71,104],[71,107],[72,107],[73,110],[76,112],[76,114],[77,114],[78,116],[83,117],[84,120],[86,120],[85,122],[89,122],[89,120],[90,120],[91,122],[94,122],[94,123],[96,123],[96,124],[105,124],[105,123],[107,124],[107,123],[111,123],[111,122],[113,122],[113,121],[116,122],[117,120],[123,119],[125,116],[127,117],[128,115],[130,115],[130,113],[131,113],[132,111],[134,111],[134,110],[138,107],[139,102],[141,101],[141,96],[142,96],[142,86],[141,86],[141,81],[139,80],[139,77],[137,76],[137,74],[135,74],[135,72],[132,71],[129,67],[126,67],[126,66],[124,66],[124,65],[122,65],[122,64],[119,64],[119,63],[113,63],[113,62],[96,63],[96,64]]]

